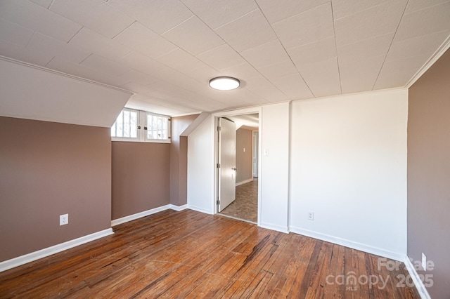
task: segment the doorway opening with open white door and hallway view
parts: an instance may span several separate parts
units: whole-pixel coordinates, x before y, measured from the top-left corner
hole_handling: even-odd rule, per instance
[[[259,113],[217,117],[216,123],[216,212],[257,224]]]

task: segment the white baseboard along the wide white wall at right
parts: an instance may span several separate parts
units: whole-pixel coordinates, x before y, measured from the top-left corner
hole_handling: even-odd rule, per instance
[[[291,227],[289,227],[289,230],[290,230],[290,232],[295,232],[295,234],[302,234],[304,236],[311,237],[314,239],[327,241],[330,243],[353,248],[353,249],[356,249],[359,251],[364,251],[366,253],[371,253],[374,255],[380,255],[380,256],[383,256],[384,258],[390,258],[392,260],[398,260],[400,262],[404,261],[405,253],[397,253],[397,252],[387,251],[383,248],[378,248],[378,247],[374,247],[374,246],[370,246],[370,245],[366,245],[366,244],[361,244],[361,243],[350,241],[347,239],[333,237],[328,234],[321,234],[319,232],[313,232],[311,230],[304,230],[300,227],[292,227],[291,226]]]

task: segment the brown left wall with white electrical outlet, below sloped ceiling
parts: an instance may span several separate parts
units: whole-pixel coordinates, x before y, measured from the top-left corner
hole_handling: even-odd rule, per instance
[[[0,117],[0,140],[0,261],[110,227],[109,128]]]

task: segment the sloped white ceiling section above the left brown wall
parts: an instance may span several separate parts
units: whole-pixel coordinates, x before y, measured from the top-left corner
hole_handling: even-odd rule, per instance
[[[131,95],[5,59],[0,59],[0,91],[2,117],[107,128]]]

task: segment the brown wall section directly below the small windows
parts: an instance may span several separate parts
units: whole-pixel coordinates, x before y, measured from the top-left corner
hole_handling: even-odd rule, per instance
[[[168,143],[113,141],[113,220],[169,204]]]

